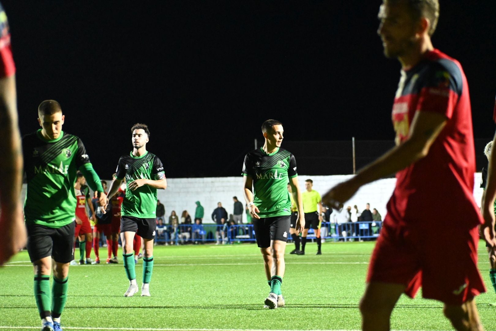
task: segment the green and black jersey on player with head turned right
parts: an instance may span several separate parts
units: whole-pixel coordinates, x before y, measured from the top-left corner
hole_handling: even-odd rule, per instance
[[[253,203],[260,217],[291,215],[288,182],[298,176],[293,154],[284,148],[270,154],[255,149],[245,156],[242,175],[253,179]]]

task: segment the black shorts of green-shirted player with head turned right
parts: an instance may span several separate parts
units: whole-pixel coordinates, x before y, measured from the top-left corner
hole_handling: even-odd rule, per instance
[[[260,248],[270,247],[271,240],[287,242],[291,216],[276,216],[256,219],[253,218],[256,244]]]

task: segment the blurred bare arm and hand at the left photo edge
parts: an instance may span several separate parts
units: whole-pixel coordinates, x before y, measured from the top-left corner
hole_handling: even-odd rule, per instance
[[[0,265],[26,244],[26,227],[21,204],[22,150],[17,125],[15,76],[0,79]]]

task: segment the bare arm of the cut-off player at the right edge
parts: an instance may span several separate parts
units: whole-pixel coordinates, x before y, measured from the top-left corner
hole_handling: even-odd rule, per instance
[[[493,146],[495,145],[496,134],[493,139]],[[495,238],[495,213],[494,213],[494,200],[496,199],[496,153],[491,152],[488,167],[488,179],[486,190],[482,195],[481,211],[484,218],[484,224],[481,225],[481,233],[484,235],[487,243],[492,247],[492,255],[495,255],[496,238]],[[490,252],[491,255],[491,252]]]

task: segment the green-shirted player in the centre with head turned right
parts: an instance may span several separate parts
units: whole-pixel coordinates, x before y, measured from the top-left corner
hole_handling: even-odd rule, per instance
[[[265,306],[275,309],[285,304],[281,283],[291,218],[290,193],[286,188],[288,181],[298,207],[297,234],[305,228],[305,215],[295,157],[281,148],[284,133],[281,122],[265,121],[262,133],[265,143],[245,156],[242,175],[245,178],[245,200],[253,218],[256,242],[263,256],[265,275],[270,285]]]

